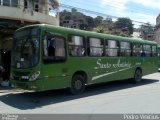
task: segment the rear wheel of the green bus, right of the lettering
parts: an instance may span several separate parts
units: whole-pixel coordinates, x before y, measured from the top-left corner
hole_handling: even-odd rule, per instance
[[[139,83],[142,81],[142,70],[136,69],[132,83]]]

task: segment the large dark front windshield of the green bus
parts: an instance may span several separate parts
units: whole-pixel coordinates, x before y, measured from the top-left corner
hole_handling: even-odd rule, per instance
[[[39,27],[29,27],[17,31],[13,40],[12,66],[23,69],[38,64],[39,43]]]

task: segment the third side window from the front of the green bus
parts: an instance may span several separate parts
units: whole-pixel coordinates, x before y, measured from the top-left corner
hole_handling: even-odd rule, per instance
[[[90,56],[103,56],[103,40],[99,38],[89,38],[88,52]]]

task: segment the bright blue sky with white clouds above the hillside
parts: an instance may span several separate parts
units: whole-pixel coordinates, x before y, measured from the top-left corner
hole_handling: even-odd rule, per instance
[[[156,24],[156,17],[160,14],[160,0],[59,0],[59,2],[111,16],[127,17],[133,21],[149,22],[153,25]],[[60,9],[65,8],[60,7]],[[92,14],[93,17],[97,15]]]

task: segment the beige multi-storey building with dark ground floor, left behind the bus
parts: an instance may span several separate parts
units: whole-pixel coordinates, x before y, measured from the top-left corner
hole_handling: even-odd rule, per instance
[[[59,25],[58,0],[0,0],[0,65],[10,63],[14,31],[22,26]]]

